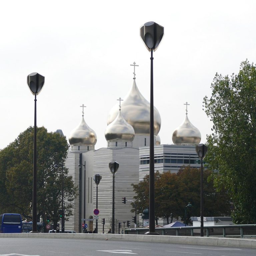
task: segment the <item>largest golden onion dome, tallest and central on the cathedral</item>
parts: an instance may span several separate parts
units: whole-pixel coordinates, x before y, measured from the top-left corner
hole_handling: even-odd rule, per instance
[[[140,93],[135,78],[130,92],[122,103],[122,115],[133,127],[135,134],[149,134],[150,129],[150,103]],[[118,114],[117,105],[113,106],[108,115],[107,124],[112,123]],[[157,135],[161,127],[161,117],[154,107],[154,134]]]

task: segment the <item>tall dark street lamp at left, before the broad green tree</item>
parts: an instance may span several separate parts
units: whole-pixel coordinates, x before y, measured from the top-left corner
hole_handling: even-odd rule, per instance
[[[37,233],[37,197],[36,197],[36,182],[37,182],[37,145],[36,145],[36,95],[40,93],[44,86],[44,76],[38,73],[31,73],[27,76],[27,84],[33,95],[35,95],[35,114],[34,114],[34,157],[33,157],[33,200],[32,200],[32,232]]]

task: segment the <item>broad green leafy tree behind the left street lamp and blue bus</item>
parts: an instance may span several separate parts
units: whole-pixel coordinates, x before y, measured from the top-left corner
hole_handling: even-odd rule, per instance
[[[1,212],[19,212],[24,218],[32,219],[33,196],[33,134],[29,127],[14,142],[0,151]],[[49,133],[44,127],[37,129],[37,221],[50,216],[57,227],[58,210],[61,208],[62,163],[67,156],[66,138]],[[54,169],[55,163],[59,168]],[[77,194],[72,177],[63,168],[65,216],[71,215],[71,202]]]

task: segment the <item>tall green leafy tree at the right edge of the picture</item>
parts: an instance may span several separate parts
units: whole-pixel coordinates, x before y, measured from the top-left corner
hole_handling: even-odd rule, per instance
[[[215,184],[228,190],[233,221],[256,222],[256,67],[247,60],[239,73],[216,74],[204,108],[213,122],[207,137],[208,168],[218,170]]]

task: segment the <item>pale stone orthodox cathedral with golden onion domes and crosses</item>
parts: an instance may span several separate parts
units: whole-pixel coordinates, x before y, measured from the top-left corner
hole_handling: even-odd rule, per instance
[[[136,63],[133,66],[135,69]],[[123,204],[122,197],[133,201],[135,192],[131,184],[138,184],[149,174],[149,128],[150,103],[143,97],[136,85],[134,70],[133,85],[119,104],[110,110],[105,130],[106,148],[95,150],[97,136],[84,120],[71,131],[69,135],[70,148],[65,161],[74,183],[79,188],[79,195],[73,201],[73,215],[65,222],[66,230],[82,231],[82,224],[87,224],[88,230],[95,228],[98,217],[98,233],[107,232],[112,226],[112,189],[113,174],[109,163],[116,161],[119,168],[114,174],[115,188],[115,233],[118,233],[118,223],[126,227],[127,221],[132,223],[130,203]],[[122,103],[121,103],[122,101]],[[200,143],[200,131],[188,119],[187,106],[183,123],[173,132],[174,144],[161,145],[158,135],[161,127],[161,117],[154,108],[155,137],[155,171],[160,173],[171,171],[177,173],[184,165],[200,167],[200,159],[195,152],[195,145]],[[84,105],[81,106],[84,109]],[[96,209],[96,184],[94,175],[101,175],[98,185],[99,214],[93,214]],[[138,216],[139,213],[137,213]],[[105,219],[103,230],[102,219]],[[126,223],[126,224],[125,224]],[[163,220],[164,223],[164,220]],[[160,223],[159,223],[160,224]]]

